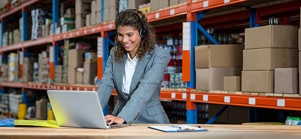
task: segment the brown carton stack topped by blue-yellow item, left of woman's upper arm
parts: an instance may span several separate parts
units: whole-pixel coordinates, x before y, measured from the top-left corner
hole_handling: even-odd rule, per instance
[[[94,84],[94,78],[97,76],[97,53],[85,53],[83,84]]]

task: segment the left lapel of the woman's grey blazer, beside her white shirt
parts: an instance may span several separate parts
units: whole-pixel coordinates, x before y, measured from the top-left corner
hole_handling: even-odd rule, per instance
[[[119,61],[116,62],[116,70],[115,70],[115,79],[116,79],[116,85],[117,85],[117,89],[118,91],[122,93],[122,80],[123,80],[123,74],[124,74],[124,69],[125,69],[125,62],[126,62],[126,54],[123,55],[122,59],[121,59],[121,63]],[[116,89],[116,88],[115,88]],[[117,90],[116,90],[117,91]]]

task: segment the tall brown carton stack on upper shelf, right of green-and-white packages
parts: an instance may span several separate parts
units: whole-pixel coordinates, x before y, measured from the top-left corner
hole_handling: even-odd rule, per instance
[[[85,27],[86,15],[91,11],[91,0],[75,1],[75,28]]]

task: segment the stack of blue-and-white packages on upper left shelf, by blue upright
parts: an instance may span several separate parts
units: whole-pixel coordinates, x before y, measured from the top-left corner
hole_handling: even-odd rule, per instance
[[[43,25],[46,19],[52,18],[52,12],[44,9],[35,9],[31,11],[32,16],[32,34],[31,39],[43,37]]]

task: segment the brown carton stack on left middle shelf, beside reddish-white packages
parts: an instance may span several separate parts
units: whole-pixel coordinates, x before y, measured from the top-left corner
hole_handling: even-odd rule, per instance
[[[33,81],[33,74],[34,74],[34,63],[37,62],[37,58],[30,58],[26,57],[23,58],[23,82],[31,82]]]

